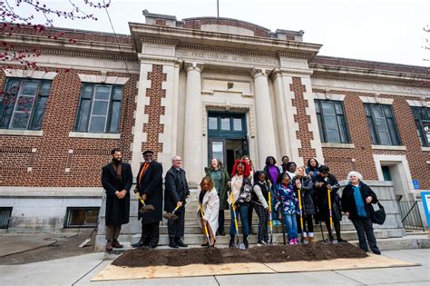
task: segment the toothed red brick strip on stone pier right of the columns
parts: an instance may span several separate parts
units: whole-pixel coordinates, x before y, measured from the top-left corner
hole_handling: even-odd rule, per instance
[[[301,142],[301,148],[298,148],[298,154],[303,157],[304,162],[308,162],[309,158],[316,156],[315,149],[311,148],[310,141],[314,139],[314,135],[308,129],[310,116],[306,114],[308,101],[304,98],[306,86],[301,84],[301,78],[293,77],[293,83],[289,84],[289,89],[294,93],[292,100],[293,106],[296,106],[297,114],[294,115],[294,122],[298,123],[297,139]]]

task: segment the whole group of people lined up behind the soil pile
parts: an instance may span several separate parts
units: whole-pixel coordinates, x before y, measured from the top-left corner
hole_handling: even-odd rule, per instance
[[[153,152],[143,153],[145,163],[137,176],[135,192],[145,204],[154,207],[153,212],[139,213],[142,218],[142,238],[133,247],[155,248],[159,242],[162,219],[162,166],[152,160]],[[132,171],[128,163],[122,163],[121,151],[112,150],[112,163],[103,167],[102,182],[106,190],[106,250],[122,247],[117,241],[121,225],[128,223]],[[205,168],[200,182],[199,208],[196,210],[201,230],[205,234],[202,246],[214,246],[216,235],[225,235],[225,211],[230,210],[230,247],[234,247],[237,234],[235,218],[240,219],[243,244],[249,246],[252,233],[252,213],[259,217],[258,245],[269,244],[269,221],[274,226],[285,225],[289,244],[314,242],[314,223],[325,222],[328,239],[333,242],[332,222],[337,242],[345,242],[340,234],[342,212],[354,223],[360,247],[367,251],[367,242],[373,252],[379,254],[373,232],[370,212],[371,203],[377,198],[364,182],[361,174],[351,172],[342,198],[337,193],[337,178],[326,165],[317,159],[308,160],[307,166],[297,166],[283,156],[278,166],[274,157],[267,157],[261,171],[255,170],[249,156],[236,160],[231,177],[222,163],[214,158]],[[174,212],[176,220],[168,220],[169,246],[187,247],[184,235],[185,204],[190,195],[181,158],[172,158],[171,169],[165,176],[164,211]],[[139,202],[139,208],[142,202]],[[303,222],[303,229],[301,227]],[[367,241],[367,242],[366,242]]]

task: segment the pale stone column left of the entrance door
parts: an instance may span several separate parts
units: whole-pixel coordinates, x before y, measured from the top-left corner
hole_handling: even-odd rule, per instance
[[[190,187],[200,182],[203,166],[202,149],[202,105],[201,105],[201,71],[203,64],[185,63],[187,71],[187,94],[185,97],[185,126],[183,143],[183,168],[187,172]]]

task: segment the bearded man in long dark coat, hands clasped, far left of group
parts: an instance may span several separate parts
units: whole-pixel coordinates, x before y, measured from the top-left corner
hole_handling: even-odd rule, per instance
[[[122,248],[118,242],[122,224],[129,222],[132,167],[122,162],[120,149],[112,149],[112,162],[103,167],[102,184],[106,191],[106,251]]]

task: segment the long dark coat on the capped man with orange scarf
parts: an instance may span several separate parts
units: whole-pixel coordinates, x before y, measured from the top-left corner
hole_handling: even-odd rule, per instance
[[[145,172],[142,173],[141,180],[139,180],[139,174],[143,165],[138,173],[136,190],[139,191],[141,196],[146,193],[145,204],[151,204],[154,207],[154,211],[146,213],[138,212],[138,219],[142,218],[143,224],[160,222],[162,219],[162,165],[161,163],[152,161]],[[138,210],[141,208],[142,202],[139,200]]]

